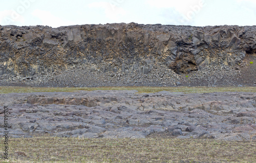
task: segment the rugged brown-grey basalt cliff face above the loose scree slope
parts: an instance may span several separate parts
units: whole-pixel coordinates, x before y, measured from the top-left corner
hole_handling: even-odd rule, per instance
[[[174,75],[209,66],[239,69],[248,65],[247,56],[255,56],[255,31],[256,26],[137,23],[0,26],[0,75],[31,77],[74,68],[114,73],[111,77],[150,74],[161,66]]]

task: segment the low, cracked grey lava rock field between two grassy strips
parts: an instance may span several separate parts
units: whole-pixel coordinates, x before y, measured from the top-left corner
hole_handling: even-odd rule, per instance
[[[78,91],[0,94],[12,138],[209,138],[255,141],[255,93]],[[58,100],[61,99],[61,100]],[[0,113],[3,121],[4,113]],[[4,133],[4,124],[0,123]]]

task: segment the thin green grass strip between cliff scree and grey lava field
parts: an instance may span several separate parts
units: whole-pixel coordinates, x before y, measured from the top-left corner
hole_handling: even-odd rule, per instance
[[[256,92],[256,87],[1,87],[3,93],[31,93],[31,92],[73,92],[94,90],[137,90],[138,93],[154,93],[160,91],[184,92],[184,93],[209,93],[209,92]]]

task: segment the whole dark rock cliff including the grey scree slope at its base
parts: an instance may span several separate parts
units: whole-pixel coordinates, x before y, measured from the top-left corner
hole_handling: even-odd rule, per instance
[[[242,86],[256,79],[247,71],[256,69],[249,64],[256,63],[256,26],[114,23],[0,29],[1,85]]]

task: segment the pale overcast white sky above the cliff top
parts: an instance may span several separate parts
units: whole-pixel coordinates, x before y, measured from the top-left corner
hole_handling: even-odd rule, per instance
[[[0,0],[0,25],[256,25],[256,0]]]

